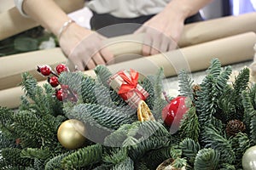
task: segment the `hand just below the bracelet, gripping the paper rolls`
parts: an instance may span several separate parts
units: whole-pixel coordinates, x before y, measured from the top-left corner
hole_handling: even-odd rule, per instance
[[[75,23],[61,34],[60,46],[67,58],[79,71],[93,69],[96,65],[107,65],[113,60],[113,54],[103,47],[102,37]]]

